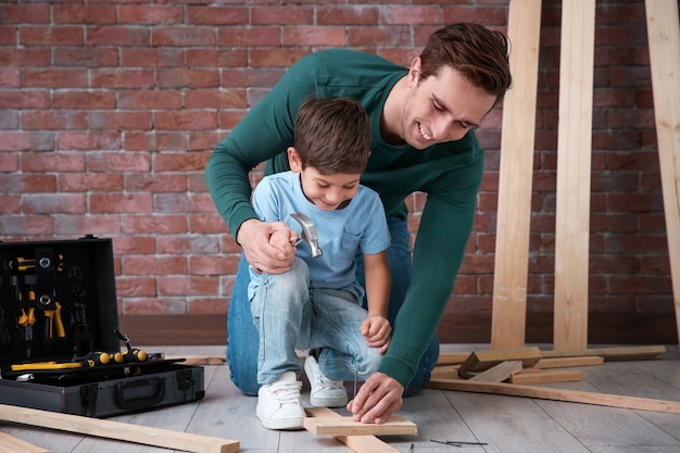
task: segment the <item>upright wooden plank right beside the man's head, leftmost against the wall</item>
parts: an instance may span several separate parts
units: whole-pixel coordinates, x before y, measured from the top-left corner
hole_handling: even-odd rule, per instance
[[[513,88],[503,101],[492,348],[525,344],[541,0],[511,0]]]

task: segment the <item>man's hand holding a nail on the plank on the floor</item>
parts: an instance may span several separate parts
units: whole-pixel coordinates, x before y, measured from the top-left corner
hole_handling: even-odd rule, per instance
[[[376,373],[362,385],[354,400],[348,403],[352,419],[381,425],[404,404],[404,386],[383,373]]]

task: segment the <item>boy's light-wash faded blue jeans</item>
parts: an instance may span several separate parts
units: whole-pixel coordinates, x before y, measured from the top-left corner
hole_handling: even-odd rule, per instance
[[[310,288],[307,264],[298,257],[287,273],[262,275],[251,312],[260,332],[259,383],[300,374],[295,348],[320,350],[318,365],[333,380],[364,381],[380,366],[380,350],[361,334],[366,310],[349,291]]]

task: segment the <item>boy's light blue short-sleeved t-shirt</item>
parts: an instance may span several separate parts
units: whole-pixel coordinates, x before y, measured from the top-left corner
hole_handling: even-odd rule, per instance
[[[380,253],[390,246],[385,209],[374,190],[360,185],[345,207],[322,211],[304,197],[300,174],[284,172],[263,178],[253,191],[252,203],[261,221],[285,222],[299,235],[302,228],[290,214],[299,212],[310,217],[323,255],[313,259],[310,246],[300,242],[297,256],[307,263],[312,288],[344,289],[360,300],[364,297],[354,274],[356,254]],[[259,285],[260,275],[250,266],[249,299]]]

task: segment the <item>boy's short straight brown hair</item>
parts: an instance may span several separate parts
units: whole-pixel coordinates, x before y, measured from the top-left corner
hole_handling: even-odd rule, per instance
[[[360,175],[370,154],[370,121],[351,98],[305,100],[295,118],[294,148],[302,168],[322,175]]]

